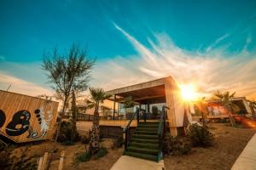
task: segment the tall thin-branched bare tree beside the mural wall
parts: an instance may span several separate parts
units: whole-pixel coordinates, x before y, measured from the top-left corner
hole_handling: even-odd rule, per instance
[[[42,67],[48,73],[49,82],[53,83],[52,88],[63,102],[61,117],[67,110],[72,90],[84,91],[88,88],[90,71],[94,63],[95,59],[90,59],[77,44],[73,44],[67,54],[59,54],[57,49],[53,53],[44,54]],[[60,124],[57,127],[55,141],[59,135]]]

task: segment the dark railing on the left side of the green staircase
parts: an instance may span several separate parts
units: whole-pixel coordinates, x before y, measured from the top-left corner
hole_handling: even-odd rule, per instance
[[[134,113],[134,115],[131,117],[131,120],[128,122],[128,124],[126,125],[125,129],[124,129],[124,133],[125,133],[125,150],[127,148],[127,146],[130,144],[131,142],[131,132],[130,132],[130,125],[131,122],[133,121],[133,119],[135,119],[135,116],[137,116],[137,124],[140,122],[140,111],[145,111],[143,109],[136,109],[136,112]],[[144,121],[146,121],[146,119],[144,118]]]

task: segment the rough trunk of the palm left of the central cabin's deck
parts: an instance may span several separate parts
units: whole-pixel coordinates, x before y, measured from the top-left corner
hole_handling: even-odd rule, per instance
[[[90,144],[89,150],[90,155],[95,155],[96,152],[100,149],[100,127],[99,127],[99,103],[96,103],[94,111],[94,120],[92,124],[92,129],[90,131]]]

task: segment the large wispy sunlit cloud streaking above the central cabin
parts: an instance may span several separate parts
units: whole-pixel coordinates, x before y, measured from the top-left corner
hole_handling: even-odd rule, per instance
[[[237,96],[256,96],[256,55],[244,51],[229,54],[223,47],[216,48],[228,34],[218,38],[204,52],[191,52],[178,48],[166,34],[154,34],[155,42],[148,38],[151,47],[146,48],[124,29],[114,26],[138,54],[97,63],[92,76],[95,86],[120,88],[172,76],[178,83],[194,82],[201,95],[219,89],[236,91]]]

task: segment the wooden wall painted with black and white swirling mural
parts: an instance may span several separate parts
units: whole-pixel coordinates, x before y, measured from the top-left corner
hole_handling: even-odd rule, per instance
[[[58,102],[0,90],[0,135],[16,143],[50,139]]]

